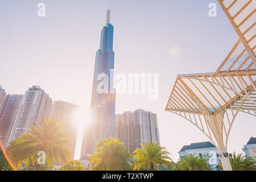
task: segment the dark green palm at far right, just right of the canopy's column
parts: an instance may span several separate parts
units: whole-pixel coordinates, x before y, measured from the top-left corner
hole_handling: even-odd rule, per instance
[[[233,171],[256,171],[256,161],[251,157],[245,158],[242,154],[235,155],[234,152],[229,161]],[[218,169],[223,169],[221,162]]]

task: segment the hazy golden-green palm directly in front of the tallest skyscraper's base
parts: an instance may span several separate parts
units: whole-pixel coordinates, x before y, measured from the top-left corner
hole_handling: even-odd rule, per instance
[[[126,171],[131,170],[131,153],[125,150],[119,139],[107,138],[99,140],[96,152],[88,158],[91,170]]]

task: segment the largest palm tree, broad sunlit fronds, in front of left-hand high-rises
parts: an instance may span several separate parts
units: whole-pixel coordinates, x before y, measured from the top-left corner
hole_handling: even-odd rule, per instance
[[[22,134],[7,147],[7,155],[16,168],[22,164],[35,166],[39,158],[39,151],[45,154],[47,166],[52,166],[54,162],[66,163],[70,160],[71,151],[68,148],[70,141],[68,134],[62,131],[63,123],[56,122],[55,119],[43,119],[42,127],[34,122],[30,127],[31,132]],[[39,170],[41,165],[36,165]]]

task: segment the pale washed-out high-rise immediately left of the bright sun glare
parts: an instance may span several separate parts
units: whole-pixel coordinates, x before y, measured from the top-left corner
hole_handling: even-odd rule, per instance
[[[75,104],[64,101],[55,101],[51,113],[51,118],[57,119],[58,122],[64,123],[63,131],[68,134],[68,139],[71,142],[71,160],[74,160],[76,137],[78,134],[74,120],[72,119],[76,109],[77,106]]]

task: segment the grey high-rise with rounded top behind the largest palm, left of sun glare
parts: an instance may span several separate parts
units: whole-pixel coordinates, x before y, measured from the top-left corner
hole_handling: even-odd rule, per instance
[[[9,138],[15,140],[23,133],[30,133],[30,126],[36,122],[42,126],[43,118],[49,119],[52,100],[39,86],[32,86],[25,92]]]

